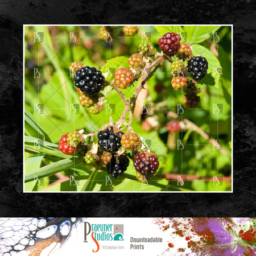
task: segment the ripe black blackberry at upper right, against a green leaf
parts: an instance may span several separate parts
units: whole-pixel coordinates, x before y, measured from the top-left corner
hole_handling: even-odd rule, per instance
[[[193,79],[199,81],[207,75],[208,61],[204,57],[192,57],[188,61],[187,68]]]

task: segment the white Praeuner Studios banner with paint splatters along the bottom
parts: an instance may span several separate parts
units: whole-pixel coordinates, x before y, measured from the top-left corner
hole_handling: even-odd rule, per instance
[[[0,218],[0,255],[256,255],[256,218]]]

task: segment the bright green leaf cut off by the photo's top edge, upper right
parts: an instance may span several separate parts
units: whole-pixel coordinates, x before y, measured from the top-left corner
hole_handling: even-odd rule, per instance
[[[184,26],[189,44],[201,43],[210,38],[220,26]]]

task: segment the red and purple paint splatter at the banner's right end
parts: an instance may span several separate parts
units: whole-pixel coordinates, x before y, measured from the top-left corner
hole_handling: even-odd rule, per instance
[[[256,255],[256,218],[155,218],[170,241],[160,255]]]

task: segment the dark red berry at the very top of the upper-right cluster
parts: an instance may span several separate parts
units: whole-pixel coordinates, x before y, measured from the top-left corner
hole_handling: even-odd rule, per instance
[[[180,35],[175,33],[166,33],[162,38],[158,39],[159,47],[163,53],[167,55],[175,55],[180,48]]]

